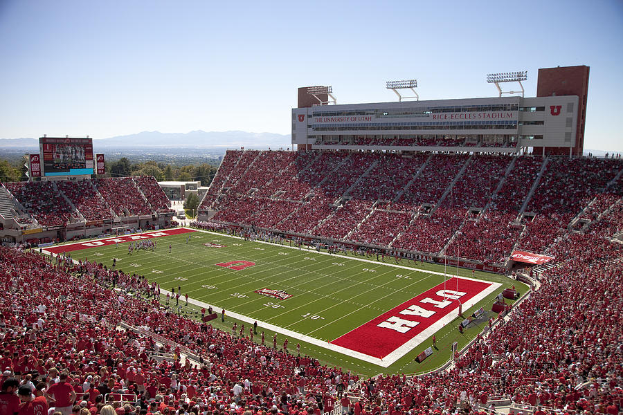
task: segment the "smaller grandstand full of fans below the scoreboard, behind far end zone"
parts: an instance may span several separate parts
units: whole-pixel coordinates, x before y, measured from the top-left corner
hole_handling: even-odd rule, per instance
[[[33,243],[170,225],[170,201],[153,177],[2,183],[3,241]]]

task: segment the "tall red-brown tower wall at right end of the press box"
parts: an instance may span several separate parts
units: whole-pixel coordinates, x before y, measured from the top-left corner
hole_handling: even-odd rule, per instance
[[[552,95],[577,95],[579,97],[577,109],[577,129],[573,156],[581,156],[584,150],[584,120],[586,119],[586,98],[588,96],[588,72],[586,65],[563,66],[557,68],[539,69],[539,79],[536,84],[537,97]],[[542,154],[543,147],[534,147],[534,154]],[[545,154],[568,156],[569,149],[564,147],[547,147]]]

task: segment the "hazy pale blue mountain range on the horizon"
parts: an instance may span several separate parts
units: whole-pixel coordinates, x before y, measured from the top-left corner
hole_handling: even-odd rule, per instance
[[[0,147],[38,147],[38,138],[0,138]],[[278,149],[291,147],[289,134],[249,133],[247,131],[190,131],[189,133],[161,133],[143,131],[127,136],[93,139],[96,148],[180,147],[180,148],[235,148]]]

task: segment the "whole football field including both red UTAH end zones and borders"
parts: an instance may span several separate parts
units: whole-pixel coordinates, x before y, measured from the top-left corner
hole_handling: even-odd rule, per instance
[[[155,241],[154,250],[133,250],[130,243]],[[125,273],[145,275],[162,293],[181,288],[174,311],[191,317],[212,306],[219,313],[210,323],[231,333],[244,324],[245,335],[258,322],[267,344],[276,333],[278,347],[314,356],[360,374],[413,373],[439,366],[450,357],[450,345],[466,344],[489,315],[457,330],[476,309],[490,310],[495,295],[515,284],[499,275],[472,273],[433,264],[386,257],[353,257],[316,252],[295,243],[245,241],[226,234],[177,228],[118,238],[98,239],[46,248],[71,251],[73,259],[98,261]],[[472,278],[476,277],[476,278]],[[188,294],[186,305],[184,295]],[[163,295],[163,304],[165,297]],[[221,321],[221,309],[226,321]],[[239,333],[237,333],[239,334]],[[415,356],[437,348],[422,363]]]

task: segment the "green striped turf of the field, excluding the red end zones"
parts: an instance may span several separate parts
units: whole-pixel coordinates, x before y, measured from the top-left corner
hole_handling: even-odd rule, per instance
[[[370,258],[373,260],[370,263],[356,259],[362,257],[339,257],[322,255],[306,248],[293,249],[289,243],[279,246],[206,232],[192,232],[190,235],[188,243],[188,234],[159,237],[155,251],[139,250],[129,255],[127,243],[120,243],[118,246],[73,251],[71,256],[74,259],[88,257],[107,266],[111,266],[113,257],[116,257],[117,268],[126,273],[145,275],[150,282],[159,283],[165,290],[175,288],[177,291],[177,287],[181,286],[181,293],[188,293],[192,299],[325,341],[338,338],[444,281],[443,275],[426,272],[434,270],[443,273],[444,266],[435,264],[403,260],[401,265],[419,270],[401,269],[376,261],[376,257]],[[204,246],[208,242],[226,247]],[[171,253],[169,245],[172,245]],[[256,265],[241,271],[215,265],[241,259],[253,261]],[[393,258],[386,261],[396,264]],[[457,268],[448,267],[446,271],[456,274]],[[503,288],[514,284],[521,292],[527,289],[524,284],[491,273],[459,269],[459,275],[503,284],[495,293],[470,310],[465,310],[466,315],[480,306],[490,310],[494,296]],[[254,293],[261,288],[283,290],[292,297],[279,300]],[[181,304],[186,303],[181,301]],[[192,305],[184,305],[182,309],[182,313],[188,313],[191,317],[197,315],[196,311],[197,307]],[[231,331],[233,321],[228,317],[225,324],[220,319],[213,320],[213,324]],[[460,321],[462,318],[458,317],[437,332],[438,349],[422,364],[415,362],[415,356],[431,346],[428,340],[387,368],[304,342],[300,342],[301,354],[367,376],[381,372],[419,373],[442,365],[450,357],[452,342],[457,341],[462,347],[482,330],[482,326],[474,326],[461,334],[456,329]],[[246,323],[247,328],[248,325]],[[260,327],[260,330],[264,329]],[[273,333],[264,331],[269,344]],[[280,345],[283,338],[278,335]],[[259,337],[254,340],[258,341]],[[297,342],[290,340],[289,351],[296,350]]]

